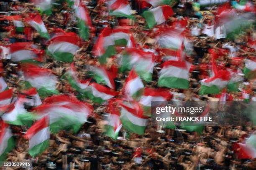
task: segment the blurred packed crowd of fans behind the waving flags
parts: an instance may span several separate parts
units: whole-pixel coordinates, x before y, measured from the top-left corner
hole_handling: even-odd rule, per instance
[[[118,18],[110,16],[105,4],[106,0],[82,0],[87,6],[92,20],[90,39],[83,42],[82,47],[74,55],[74,65],[81,80],[88,78],[87,66],[100,65],[97,57],[92,52],[93,45],[99,37],[100,32],[105,27],[125,28],[131,30],[137,46],[152,51],[157,56],[163,54],[159,52],[155,44],[155,28],[148,29],[146,20],[142,17],[143,11],[151,7],[146,0],[129,0],[131,7],[136,13],[135,19]],[[209,49],[220,51],[218,57],[218,67],[230,67],[243,70],[243,60],[247,57],[255,57],[255,45],[249,42],[255,41],[255,27],[247,28],[239,35],[228,38],[218,38],[207,36],[202,33],[205,24],[215,24],[215,13],[220,5],[214,5],[203,10],[195,11],[192,7],[194,0],[171,0],[170,5],[174,10],[174,15],[157,27],[171,26],[177,20],[187,20],[187,29],[190,36],[187,37],[187,47],[190,47],[190,55],[187,60],[192,63],[189,77],[189,90],[169,89],[175,100],[202,100],[198,94],[200,80],[209,77]],[[251,1],[255,5],[255,0]],[[23,18],[29,17],[29,13],[37,13],[38,9],[28,0],[1,0],[0,11],[20,12]],[[51,32],[62,29],[65,32],[78,33],[76,20],[73,10],[64,0],[56,0],[52,6],[51,15],[41,14],[41,18],[46,28]],[[241,12],[243,13],[243,12]],[[199,15],[200,14],[200,15]],[[76,94],[68,82],[61,77],[68,70],[70,63],[55,61],[47,55],[46,39],[40,37],[38,32],[25,25],[24,32],[15,31],[11,21],[0,20],[0,45],[7,46],[14,42],[32,42],[41,50],[43,56],[42,67],[52,70],[59,77],[57,90],[61,94]],[[233,60],[232,57],[239,57]],[[0,72],[7,82],[8,87],[14,88],[14,94],[18,95],[23,90],[19,84],[19,63],[3,57],[0,60]],[[117,66],[117,61],[112,57],[107,60],[107,67]],[[154,67],[153,80],[144,82],[146,87],[157,86],[157,67]],[[115,78],[115,90],[120,92],[128,72],[118,73]],[[248,80],[245,77],[241,80],[241,88],[246,89],[255,101],[256,81]],[[120,92],[121,95],[121,92]],[[230,92],[233,100],[243,100],[242,92]],[[219,100],[215,95],[203,96],[207,100]],[[30,169],[33,170],[171,170],[171,169],[230,169],[230,170],[249,170],[255,169],[255,159],[242,159],[236,153],[234,144],[242,142],[244,138],[255,133],[254,127],[223,127],[205,126],[202,134],[196,132],[182,131],[176,129],[163,129],[161,133],[154,125],[147,125],[144,135],[129,133],[127,136],[125,129],[121,129],[118,140],[113,140],[102,135],[104,130],[104,113],[108,112],[107,103],[97,104],[86,100],[94,107],[93,115],[79,130],[74,134],[69,131],[61,131],[51,134],[50,145],[41,155],[31,158],[28,155],[28,140],[23,137],[28,127],[11,125],[15,135],[15,149],[8,154],[6,161],[19,162],[24,160],[31,161]],[[15,168],[9,168],[15,169]],[[18,169],[18,168],[16,168]],[[23,168],[20,168],[23,169]]]

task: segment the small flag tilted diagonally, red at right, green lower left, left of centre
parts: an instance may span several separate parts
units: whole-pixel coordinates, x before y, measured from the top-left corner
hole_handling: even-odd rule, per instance
[[[106,70],[106,68],[103,66],[99,66],[94,67],[92,73],[94,74],[93,78],[97,81],[97,83],[103,83],[108,87],[115,89],[114,79],[116,77],[116,74],[114,72],[111,72],[111,70]]]

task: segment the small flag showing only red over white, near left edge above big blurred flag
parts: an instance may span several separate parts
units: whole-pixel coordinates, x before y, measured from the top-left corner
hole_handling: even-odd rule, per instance
[[[38,106],[42,104],[40,96],[38,95],[35,87],[21,91],[21,94],[26,96],[25,103],[28,106]]]

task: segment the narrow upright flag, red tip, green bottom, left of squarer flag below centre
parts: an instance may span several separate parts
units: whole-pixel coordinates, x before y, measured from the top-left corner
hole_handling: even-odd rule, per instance
[[[104,135],[117,140],[118,133],[122,128],[122,122],[120,120],[120,112],[117,110],[112,102],[109,103],[108,109],[110,113],[107,117],[107,125],[105,125],[105,132]]]

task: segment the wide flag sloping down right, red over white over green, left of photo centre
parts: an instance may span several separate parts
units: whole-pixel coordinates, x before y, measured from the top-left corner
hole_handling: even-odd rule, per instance
[[[118,95],[118,92],[93,82],[85,89],[84,95],[93,102],[101,104]]]

